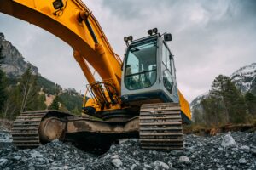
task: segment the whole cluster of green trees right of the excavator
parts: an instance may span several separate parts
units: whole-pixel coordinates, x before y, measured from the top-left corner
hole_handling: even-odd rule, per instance
[[[214,79],[209,95],[201,100],[201,106],[202,111],[193,111],[193,119],[195,124],[207,127],[247,123],[256,116],[256,97],[252,93],[241,94],[230,77],[224,75]]]

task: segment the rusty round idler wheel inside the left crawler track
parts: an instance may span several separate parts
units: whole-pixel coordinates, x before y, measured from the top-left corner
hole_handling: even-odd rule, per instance
[[[48,143],[54,139],[64,139],[66,122],[57,117],[45,118],[39,127],[41,143]]]

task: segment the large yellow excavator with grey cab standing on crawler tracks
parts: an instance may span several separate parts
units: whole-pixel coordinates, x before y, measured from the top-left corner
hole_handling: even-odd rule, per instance
[[[183,150],[182,125],[191,122],[191,112],[177,88],[174,56],[167,45],[170,33],[154,28],[146,37],[125,37],[122,61],[80,0],[0,0],[0,12],[67,42],[91,96],[82,106],[87,116],[49,110],[20,113],[11,130],[15,146],[35,148],[59,139],[84,150],[108,150],[119,139],[137,138],[145,150]]]

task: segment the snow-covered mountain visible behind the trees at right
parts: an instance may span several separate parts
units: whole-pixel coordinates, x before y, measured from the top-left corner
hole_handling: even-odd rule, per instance
[[[241,90],[243,94],[251,92],[256,95],[256,63],[246,65],[231,74],[230,79],[235,83],[236,87]],[[193,99],[190,103],[191,111],[195,109],[201,111],[201,99],[207,97],[209,93],[206,92]]]

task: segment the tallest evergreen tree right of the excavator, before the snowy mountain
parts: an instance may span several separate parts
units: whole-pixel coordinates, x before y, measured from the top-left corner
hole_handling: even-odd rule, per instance
[[[230,77],[219,75],[212,82],[207,99],[201,101],[206,124],[239,123],[247,118],[247,107],[241,91]]]

